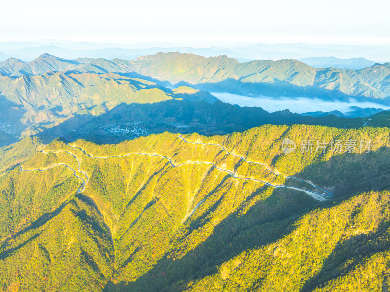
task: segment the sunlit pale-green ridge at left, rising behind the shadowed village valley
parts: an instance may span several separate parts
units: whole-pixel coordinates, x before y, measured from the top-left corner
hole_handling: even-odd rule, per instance
[[[0,76],[0,91],[0,124],[8,126],[8,131],[15,137],[39,133],[75,116],[90,116],[91,119],[119,104],[173,99],[213,103],[217,100],[207,92],[186,93],[183,88],[178,89],[176,97],[172,90],[154,82],[114,73],[48,72],[19,78]],[[67,131],[77,128],[78,123],[80,121]]]

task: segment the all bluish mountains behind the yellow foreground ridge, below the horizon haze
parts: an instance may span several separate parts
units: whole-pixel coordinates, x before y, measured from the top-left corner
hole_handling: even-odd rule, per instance
[[[208,91],[307,96],[326,92],[323,97],[333,99],[360,94],[364,100],[386,102],[389,69],[389,64],[359,71],[316,69],[296,60],[239,63],[226,56],[181,53],[136,61],[66,60],[49,54],[28,63],[10,58],[0,63],[0,141],[7,145],[29,135],[49,140],[65,135],[102,143],[164,131],[226,134],[266,123],[359,127],[364,120],[240,108],[218,101]],[[349,117],[375,113],[359,110]]]

